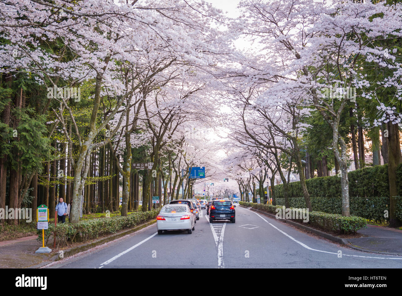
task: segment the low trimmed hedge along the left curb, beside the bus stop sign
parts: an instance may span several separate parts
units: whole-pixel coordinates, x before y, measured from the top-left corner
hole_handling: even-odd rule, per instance
[[[126,217],[117,216],[111,218],[98,218],[83,220],[75,224],[60,223],[57,227],[54,224],[49,225],[45,230],[45,245],[53,232],[56,234],[57,247],[67,245],[68,242],[85,242],[103,236],[115,233],[125,228],[131,228],[140,225],[149,220],[155,219],[160,212],[160,208],[148,212],[134,212]],[[39,242],[42,242],[42,231],[38,230]]]

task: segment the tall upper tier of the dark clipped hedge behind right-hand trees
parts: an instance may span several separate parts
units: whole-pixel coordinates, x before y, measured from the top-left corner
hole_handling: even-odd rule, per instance
[[[402,164],[396,171],[398,195],[402,195]],[[368,166],[348,173],[349,196],[389,198],[388,164]],[[319,177],[306,180],[310,196],[340,197],[340,178],[338,176]],[[275,197],[283,197],[283,185],[275,185]],[[289,183],[289,197],[302,197],[300,182]]]

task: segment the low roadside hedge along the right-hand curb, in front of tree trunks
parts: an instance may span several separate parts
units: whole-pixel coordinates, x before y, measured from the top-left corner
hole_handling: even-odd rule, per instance
[[[276,214],[276,209],[282,208],[282,206],[240,202],[240,205],[242,206],[247,206],[246,204],[251,204],[252,208],[269,212],[271,214]],[[304,206],[295,208],[304,208]],[[307,222],[307,224],[327,231],[349,234],[355,233],[360,228],[365,227],[367,223],[365,218],[358,216],[345,217],[338,214],[313,211],[309,212],[309,222]]]

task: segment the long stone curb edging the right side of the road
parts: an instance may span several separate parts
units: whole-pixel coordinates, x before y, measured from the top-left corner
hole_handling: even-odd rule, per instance
[[[239,205],[239,206],[241,206],[241,205]],[[332,241],[335,242],[335,243],[340,243],[340,244],[342,244],[342,245],[347,245],[347,247],[349,247],[349,248],[351,248],[351,249],[355,249],[355,250],[357,250],[357,251],[361,251],[361,252],[365,252],[365,253],[375,253],[375,254],[381,254],[381,255],[402,256],[401,253],[382,252],[382,251],[375,251],[375,250],[364,249],[364,248],[358,247],[358,246],[356,246],[356,245],[352,245],[352,243],[350,243],[349,240],[347,240],[346,238],[340,238],[340,237],[338,237],[338,236],[334,236],[334,235],[332,235],[332,234],[328,234],[328,233],[326,233],[326,232],[322,232],[322,231],[320,231],[320,230],[311,228],[311,227],[309,227],[309,226],[301,225],[301,224],[299,224],[299,223],[297,223],[297,222],[294,222],[294,221],[291,221],[291,220],[277,219],[277,218],[275,217],[275,215],[273,215],[273,214],[271,214],[271,213],[264,212],[264,211],[260,211],[260,210],[256,210],[256,209],[254,209],[254,208],[252,208],[252,207],[250,207],[250,208],[245,207],[245,206],[241,206],[241,207],[242,207],[242,208],[246,208],[246,209],[248,209],[248,210],[252,210],[253,212],[260,212],[261,214],[267,215],[267,216],[269,216],[270,218],[273,218],[273,219],[275,219],[275,220],[280,220],[280,221],[283,221],[283,222],[285,222],[285,223],[288,223],[288,224],[291,224],[291,225],[293,225],[293,226],[296,226],[296,227],[298,227],[298,228],[301,228],[301,229],[304,229],[304,230],[308,230],[308,231],[310,231],[310,232],[312,232],[312,233],[314,233],[314,234],[317,234],[317,235],[319,235],[319,236],[322,236],[322,237],[324,237],[324,238],[327,238],[327,239],[329,239],[329,240],[332,240]]]

